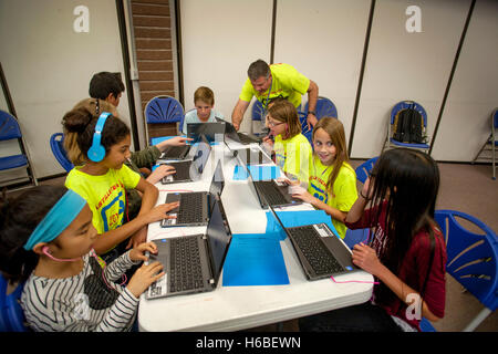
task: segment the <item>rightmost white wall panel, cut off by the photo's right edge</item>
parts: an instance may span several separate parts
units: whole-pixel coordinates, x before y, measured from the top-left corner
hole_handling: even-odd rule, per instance
[[[477,1],[458,59],[432,156],[474,159],[498,107],[498,1]]]

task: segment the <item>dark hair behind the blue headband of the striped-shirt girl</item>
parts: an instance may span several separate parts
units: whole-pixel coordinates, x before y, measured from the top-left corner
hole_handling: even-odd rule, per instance
[[[63,186],[38,186],[13,199],[1,196],[0,271],[11,283],[27,280],[37,267],[39,256],[23,246],[66,191]]]

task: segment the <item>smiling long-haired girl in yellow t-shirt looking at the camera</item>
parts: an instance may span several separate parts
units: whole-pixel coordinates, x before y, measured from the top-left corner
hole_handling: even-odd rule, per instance
[[[343,239],[344,219],[357,198],[356,174],[347,163],[344,126],[336,118],[323,117],[313,128],[313,165],[308,190],[293,197],[310,202],[332,217],[332,223]]]

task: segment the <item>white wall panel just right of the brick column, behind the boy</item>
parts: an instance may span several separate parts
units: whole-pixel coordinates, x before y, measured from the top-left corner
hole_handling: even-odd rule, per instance
[[[181,46],[185,111],[194,108],[194,92],[215,92],[215,110],[231,117],[247,69],[270,60],[272,0],[181,0]],[[250,131],[250,107],[242,131]]]

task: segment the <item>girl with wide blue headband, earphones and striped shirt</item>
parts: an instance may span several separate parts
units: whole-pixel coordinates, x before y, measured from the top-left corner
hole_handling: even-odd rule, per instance
[[[145,216],[162,218],[165,206]],[[38,186],[1,200],[0,270],[10,283],[24,282],[21,306],[33,331],[129,331],[139,295],[164,274],[158,262],[143,264],[126,288],[122,274],[157,253],[142,243],[102,269],[92,247],[92,211],[76,192]]]

